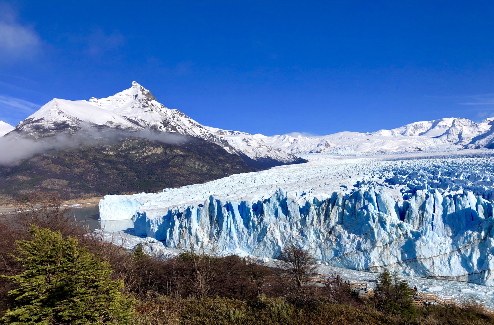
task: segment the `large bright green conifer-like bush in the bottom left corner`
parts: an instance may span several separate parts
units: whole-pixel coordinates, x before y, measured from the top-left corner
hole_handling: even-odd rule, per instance
[[[131,303],[124,284],[110,278],[112,268],[78,240],[59,231],[32,227],[32,240],[18,241],[17,261],[25,270],[7,277],[17,285],[8,294],[14,305],[2,318],[7,324],[127,324]]]

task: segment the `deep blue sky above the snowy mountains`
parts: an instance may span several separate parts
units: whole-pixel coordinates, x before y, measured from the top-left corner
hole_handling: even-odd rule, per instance
[[[493,1],[0,2],[0,120],[132,80],[265,135],[494,116]]]

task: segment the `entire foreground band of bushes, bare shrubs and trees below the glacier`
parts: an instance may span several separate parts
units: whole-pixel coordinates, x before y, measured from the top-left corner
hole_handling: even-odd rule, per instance
[[[59,197],[30,200],[0,222],[0,324],[494,324],[475,304],[416,308],[389,273],[368,301],[344,279],[314,286],[313,258],[294,246],[276,268],[235,255],[128,253],[71,223]]]

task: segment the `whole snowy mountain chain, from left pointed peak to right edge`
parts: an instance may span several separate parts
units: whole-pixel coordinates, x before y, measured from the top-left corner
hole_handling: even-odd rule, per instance
[[[177,109],[166,108],[146,88],[132,86],[89,101],[53,99],[15,128],[0,121],[0,136],[40,139],[84,130],[179,134],[207,140],[241,156],[257,169],[304,162],[296,154],[413,152],[494,147],[494,117],[482,123],[466,118],[420,121],[372,133],[339,132],[327,136],[251,135],[203,126]]]

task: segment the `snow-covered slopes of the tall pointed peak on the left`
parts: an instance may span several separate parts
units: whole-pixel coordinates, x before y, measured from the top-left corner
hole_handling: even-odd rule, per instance
[[[252,167],[305,161],[266,145],[248,133],[205,127],[183,112],[158,103],[149,90],[135,81],[129,89],[107,98],[93,97],[89,101],[54,98],[20,122],[11,133],[40,139],[91,130],[150,131],[201,138],[240,155]]]

